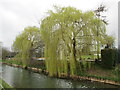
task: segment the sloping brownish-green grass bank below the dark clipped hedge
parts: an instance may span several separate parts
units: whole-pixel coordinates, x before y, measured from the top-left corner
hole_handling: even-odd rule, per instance
[[[118,73],[119,74],[119,73]],[[89,70],[83,73],[83,76],[93,77],[97,79],[112,80],[120,82],[119,75],[116,74],[115,68],[105,69],[99,65],[94,65]]]

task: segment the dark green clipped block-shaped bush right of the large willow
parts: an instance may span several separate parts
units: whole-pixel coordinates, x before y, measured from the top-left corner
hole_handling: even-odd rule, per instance
[[[101,50],[102,66],[106,69],[112,69],[115,66],[117,59],[116,49],[103,49]]]

